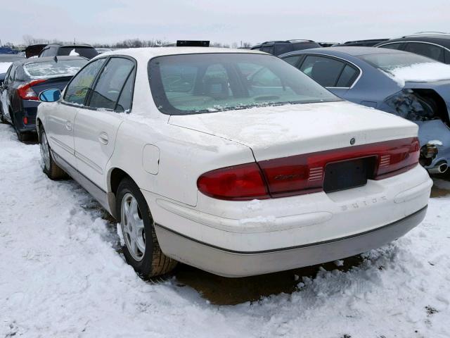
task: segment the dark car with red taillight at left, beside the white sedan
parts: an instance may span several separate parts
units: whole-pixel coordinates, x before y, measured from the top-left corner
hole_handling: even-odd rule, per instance
[[[73,75],[88,61],[79,56],[27,58],[15,61],[0,79],[0,119],[11,123],[18,139],[36,132],[39,93],[45,89],[63,90]]]

